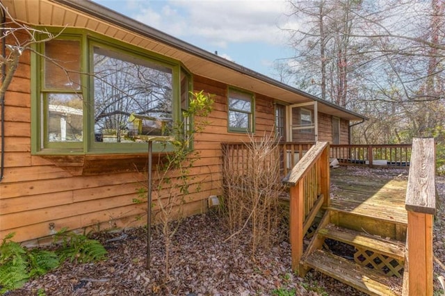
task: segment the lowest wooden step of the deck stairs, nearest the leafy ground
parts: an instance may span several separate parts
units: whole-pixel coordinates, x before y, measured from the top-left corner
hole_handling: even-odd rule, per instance
[[[345,258],[320,249],[304,258],[302,265],[306,268],[314,268],[318,272],[322,272],[369,295],[390,296],[400,294],[396,290],[401,290],[401,279],[385,277],[374,270],[363,268]],[[394,286],[396,286],[395,290],[391,288]]]

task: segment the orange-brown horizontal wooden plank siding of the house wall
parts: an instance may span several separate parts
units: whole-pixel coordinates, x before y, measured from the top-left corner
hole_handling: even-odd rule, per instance
[[[195,149],[200,151],[200,160],[194,163],[191,174],[197,176],[194,182],[200,182],[201,190],[186,198],[184,212],[187,215],[207,211],[209,195],[222,194],[221,142],[250,140],[246,133],[228,131],[227,90],[232,86],[234,85],[193,75],[193,90],[213,94],[215,103],[213,111],[205,118],[209,124],[203,133],[196,135],[193,143]],[[273,103],[277,98],[251,89],[245,91],[254,95],[255,137],[273,133]],[[15,232],[14,239],[17,241],[39,243],[47,242],[44,238],[49,238],[54,231],[63,227],[104,229],[145,224],[144,219],[136,218],[145,214],[147,205],[135,204],[133,199],[138,197],[136,190],[146,182],[144,170],[147,154],[31,154],[29,51],[24,51],[20,58],[19,67],[6,92],[4,111],[5,149],[4,177],[0,182],[0,238]],[[332,117],[320,113],[319,118],[322,121],[318,128],[323,137],[328,138]],[[348,120],[342,120],[341,126],[343,143],[348,138]]]

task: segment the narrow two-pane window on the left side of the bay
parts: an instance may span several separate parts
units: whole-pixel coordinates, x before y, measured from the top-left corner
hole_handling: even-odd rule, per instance
[[[44,44],[42,63],[42,147],[81,148],[83,92],[81,40],[51,40]]]

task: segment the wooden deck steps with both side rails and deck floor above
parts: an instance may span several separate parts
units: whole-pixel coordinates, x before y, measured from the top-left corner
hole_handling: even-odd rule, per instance
[[[283,179],[292,269],[304,277],[313,268],[369,295],[433,295],[434,139],[413,139],[407,180],[329,170],[328,151],[316,142]]]

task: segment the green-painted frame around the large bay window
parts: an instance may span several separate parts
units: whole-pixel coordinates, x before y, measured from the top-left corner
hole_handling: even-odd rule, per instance
[[[128,63],[136,63],[134,65],[141,65],[140,67],[148,67],[156,72],[159,69],[165,70],[170,78],[171,85],[170,90],[165,90],[171,96],[168,101],[171,101],[170,107],[165,107],[171,110],[168,114],[171,114],[171,122],[177,122],[182,120],[181,110],[187,108],[188,101],[184,103],[184,98],[191,99],[191,95],[188,94],[190,90],[193,90],[191,73],[181,65],[177,60],[171,58],[163,57],[159,54],[155,54],[144,49],[140,49],[131,44],[125,44],[118,40],[113,40],[103,35],[97,33],[92,33],[87,30],[70,29],[70,28],[45,28],[53,33],[59,33],[63,31],[62,34],[58,35],[54,41],[66,42],[78,42],[80,47],[80,71],[74,75],[80,76],[80,86],[71,89],[65,89],[63,86],[56,83],[47,83],[48,77],[51,78],[51,74],[48,74],[45,67],[48,63],[48,58],[45,53],[47,50],[45,48],[44,42],[35,44],[33,47],[33,52],[31,52],[31,153],[32,154],[48,154],[48,155],[65,155],[65,154],[127,154],[127,153],[144,153],[147,151],[147,142],[141,140],[140,142],[97,142],[96,126],[97,117],[95,118],[95,88],[94,79],[95,74],[93,63],[93,56],[95,48],[104,48],[104,51],[108,50],[110,52],[116,53],[119,56],[118,60],[121,60],[120,56],[124,56],[123,63],[125,59],[131,60]],[[51,40],[52,41],[52,40]],[[56,51],[54,51],[56,52]],[[113,57],[111,57],[113,58]],[[136,62],[133,62],[136,60]],[[163,70],[160,70],[163,71]],[[57,72],[57,71],[55,71]],[[119,71],[116,71],[118,73]],[[158,71],[159,72],[159,71]],[[57,75],[53,75],[56,77]],[[58,75],[60,77],[60,75]],[[149,76],[151,78],[151,76]],[[184,77],[186,77],[184,81]],[[57,80],[57,79],[55,79]],[[60,79],[59,79],[60,80]],[[46,83],[46,84],[45,84]],[[181,90],[182,85],[186,85],[186,90]],[[161,85],[162,87],[162,85]],[[165,87],[164,87],[165,88]],[[166,88],[165,88],[166,89]],[[184,94],[184,91],[187,94]],[[54,126],[54,122],[57,122],[58,117],[54,116],[51,119],[51,114],[60,113],[60,108],[55,110],[54,106],[51,105],[51,100],[57,99],[67,99],[67,97],[78,96],[82,98],[82,103],[75,108],[71,106],[62,106],[63,110],[69,113],[69,115],[74,115],[81,117],[81,120],[75,120],[78,129],[77,136],[69,138],[67,136],[67,131],[65,133],[58,133],[56,140],[51,137],[49,131],[51,126]],[[68,99],[70,100],[70,99]],[[147,99],[148,101],[148,99]],[[73,104],[74,104],[73,103]],[[156,101],[154,101],[156,103]],[[148,104],[148,103],[147,103]],[[151,103],[153,104],[153,103]],[[160,103],[156,103],[160,104]],[[134,104],[135,106],[138,104]],[[147,105],[148,106],[148,105]],[[150,105],[152,106],[152,105]],[[60,107],[60,106],[58,106]],[[135,107],[136,108],[136,107]],[[159,107],[158,107],[159,108]],[[67,111],[68,110],[68,111]],[[118,110],[118,109],[116,109]],[[120,110],[120,109],[119,109]],[[141,109],[144,110],[144,109]],[[147,109],[145,109],[147,110]],[[148,110],[147,110],[148,111]],[[74,114],[74,115],[73,115]],[[127,115],[129,113],[126,113]],[[127,116],[126,115],[126,116]],[[50,123],[51,122],[53,123]],[[62,128],[64,120],[60,117],[60,129],[64,131],[66,128]],[[67,124],[72,128],[73,122]],[[193,123],[188,123],[188,125]],[[80,126],[80,127],[79,127]],[[57,128],[57,126],[56,126]],[[190,128],[190,126],[188,127]],[[79,132],[79,129],[81,131]],[[70,132],[70,135],[72,132]],[[142,138],[142,137],[141,137]],[[172,147],[170,145],[163,145],[162,143],[154,143],[154,151],[171,151]]]

